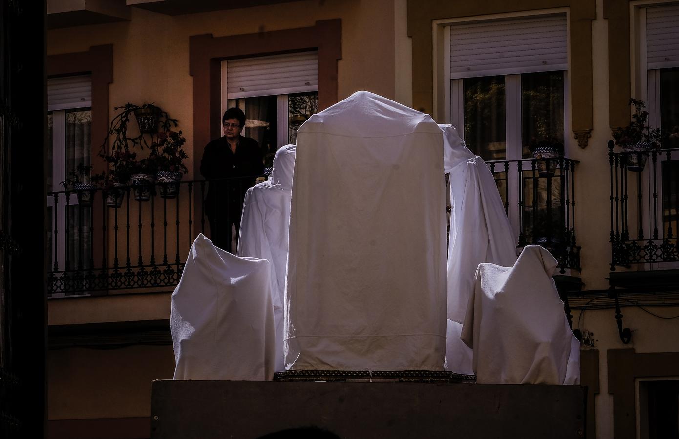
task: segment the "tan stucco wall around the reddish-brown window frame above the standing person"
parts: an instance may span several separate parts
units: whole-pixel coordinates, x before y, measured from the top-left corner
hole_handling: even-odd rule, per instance
[[[263,7],[168,16],[132,8],[130,22],[76,26],[48,32],[48,55],[82,52],[113,44],[113,107],[155,102],[179,119],[193,138],[193,79],[189,75],[189,37],[215,37],[312,26],[316,20],[342,19],[342,60],[337,64],[338,98],[356,90],[395,96],[394,3],[392,0],[308,0]],[[401,51],[402,52],[402,51]],[[193,169],[189,157],[190,170]]]

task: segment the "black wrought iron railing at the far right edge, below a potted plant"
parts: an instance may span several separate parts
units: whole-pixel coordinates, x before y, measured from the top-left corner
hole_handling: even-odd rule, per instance
[[[608,164],[610,269],[679,262],[679,149],[614,152],[610,141]]]

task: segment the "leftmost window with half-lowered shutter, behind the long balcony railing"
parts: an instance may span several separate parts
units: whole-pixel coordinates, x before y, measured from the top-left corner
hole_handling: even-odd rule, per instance
[[[48,191],[63,191],[61,182],[79,164],[90,166],[92,83],[89,75],[48,80]],[[88,176],[85,176],[85,183]],[[92,212],[78,206],[71,193],[48,195],[50,265],[58,270],[90,268]],[[57,233],[54,233],[56,229]],[[53,246],[56,245],[56,252]],[[68,267],[67,267],[68,264]],[[52,267],[54,268],[54,267]]]

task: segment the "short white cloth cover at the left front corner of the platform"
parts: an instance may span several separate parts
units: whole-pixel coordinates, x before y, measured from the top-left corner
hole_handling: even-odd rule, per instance
[[[221,250],[200,233],[172,293],[170,329],[175,379],[273,379],[269,262]]]

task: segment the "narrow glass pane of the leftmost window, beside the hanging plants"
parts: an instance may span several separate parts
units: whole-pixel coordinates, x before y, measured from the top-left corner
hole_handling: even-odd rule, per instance
[[[92,126],[92,110],[69,110],[66,113],[66,174],[77,166],[90,166],[90,128]],[[84,183],[89,183],[89,173]]]

